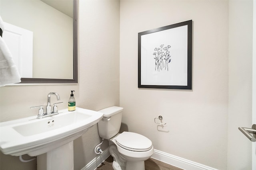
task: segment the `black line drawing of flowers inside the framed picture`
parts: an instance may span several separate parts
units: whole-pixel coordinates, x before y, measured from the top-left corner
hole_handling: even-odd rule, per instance
[[[155,70],[160,71],[160,70],[166,70],[168,71],[168,64],[171,62],[172,59],[170,59],[170,45],[167,45],[164,47],[164,44],[160,45],[160,48],[155,48],[153,55],[155,56]]]

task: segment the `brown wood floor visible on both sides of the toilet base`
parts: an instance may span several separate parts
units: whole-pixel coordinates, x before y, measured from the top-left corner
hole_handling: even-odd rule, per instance
[[[96,170],[114,170],[112,168],[113,157],[109,156]],[[145,170],[182,170],[159,160],[149,158],[145,161]]]

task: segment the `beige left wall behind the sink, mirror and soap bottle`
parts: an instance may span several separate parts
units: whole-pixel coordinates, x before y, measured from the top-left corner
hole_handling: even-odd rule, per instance
[[[47,102],[49,92],[58,92],[67,107],[70,90],[75,90],[77,107],[100,110],[119,106],[119,6],[117,0],[79,1],[79,83],[78,85],[5,86],[0,88],[0,120],[34,115]],[[56,102],[52,98],[51,102]],[[96,157],[101,142],[98,127],[92,127],[74,141],[74,168],[80,170]],[[103,149],[108,143],[103,145]],[[26,157],[25,157],[26,158]],[[36,161],[22,163],[16,156],[1,153],[0,169],[35,170]]]

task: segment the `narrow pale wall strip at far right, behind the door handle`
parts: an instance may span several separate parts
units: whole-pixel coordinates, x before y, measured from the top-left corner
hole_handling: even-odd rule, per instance
[[[238,130],[252,127],[252,15],[252,1],[229,2],[228,170],[252,166],[252,142]]]

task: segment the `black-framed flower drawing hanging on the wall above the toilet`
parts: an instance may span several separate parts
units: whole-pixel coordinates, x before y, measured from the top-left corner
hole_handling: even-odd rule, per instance
[[[138,88],[192,89],[192,20],[138,33]]]

